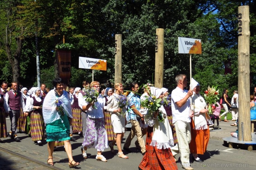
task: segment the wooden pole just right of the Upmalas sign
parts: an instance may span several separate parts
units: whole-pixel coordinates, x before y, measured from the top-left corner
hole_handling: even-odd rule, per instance
[[[115,36],[115,84],[122,82],[122,34]]]

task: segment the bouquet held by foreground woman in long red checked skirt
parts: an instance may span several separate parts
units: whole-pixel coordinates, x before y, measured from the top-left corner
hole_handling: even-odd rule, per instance
[[[145,99],[142,100],[140,102],[141,107],[147,108],[149,113],[152,114],[153,117],[153,113],[154,112],[158,112],[158,109],[161,107],[162,103],[161,103],[162,99],[156,99],[156,96],[152,95],[152,96],[145,96]],[[162,116],[162,113],[159,112],[158,114],[158,120],[161,122],[164,122],[164,118]]]

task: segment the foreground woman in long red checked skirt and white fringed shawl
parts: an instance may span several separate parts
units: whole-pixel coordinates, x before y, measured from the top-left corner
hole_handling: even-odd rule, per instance
[[[163,97],[161,89],[151,87],[150,90],[157,99]],[[158,120],[159,112],[162,113],[164,122]],[[139,170],[178,169],[171,151],[174,146],[172,129],[163,106],[159,108],[159,112],[154,112],[153,115],[148,112],[145,115],[145,123],[148,124],[146,153],[139,164]]]

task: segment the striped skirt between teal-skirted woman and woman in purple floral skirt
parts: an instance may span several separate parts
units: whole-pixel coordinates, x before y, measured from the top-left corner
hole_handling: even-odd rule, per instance
[[[78,133],[82,132],[82,116],[81,116],[82,109],[80,108],[72,108],[72,132]]]

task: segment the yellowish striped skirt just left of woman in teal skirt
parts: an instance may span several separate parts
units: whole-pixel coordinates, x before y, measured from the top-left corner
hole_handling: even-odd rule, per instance
[[[31,112],[30,131],[33,141],[44,140],[44,121],[42,114]]]

